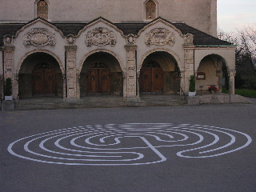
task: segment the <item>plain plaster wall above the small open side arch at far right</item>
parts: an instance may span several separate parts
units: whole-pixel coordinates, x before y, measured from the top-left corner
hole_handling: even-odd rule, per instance
[[[194,50],[194,70],[198,69],[202,58],[207,55],[217,54],[221,56],[225,62],[228,70],[235,70],[235,46],[223,48],[198,48]]]

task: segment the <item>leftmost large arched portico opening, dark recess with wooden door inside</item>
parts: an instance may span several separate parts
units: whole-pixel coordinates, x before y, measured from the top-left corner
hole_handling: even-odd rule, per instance
[[[63,69],[56,56],[47,51],[33,51],[18,63],[17,89],[20,98],[34,95],[63,96]]]

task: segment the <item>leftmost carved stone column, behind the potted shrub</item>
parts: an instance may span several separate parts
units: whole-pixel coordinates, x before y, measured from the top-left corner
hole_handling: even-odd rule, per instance
[[[3,46],[3,73],[4,80],[11,78],[13,86],[13,98],[16,99],[18,96],[18,74],[14,78],[14,49],[15,46]]]

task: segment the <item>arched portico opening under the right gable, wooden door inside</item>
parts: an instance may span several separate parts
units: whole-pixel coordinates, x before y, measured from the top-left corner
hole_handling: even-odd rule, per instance
[[[149,51],[139,63],[138,86],[140,92],[177,94],[181,86],[181,62],[172,51]],[[178,62],[180,64],[178,65]]]

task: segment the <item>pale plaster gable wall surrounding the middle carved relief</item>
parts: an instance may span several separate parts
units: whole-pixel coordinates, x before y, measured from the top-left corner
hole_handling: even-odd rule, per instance
[[[116,34],[117,36],[117,43],[115,46],[110,46],[110,45],[106,45],[106,46],[86,46],[86,34],[90,31],[90,30],[94,30],[95,28],[98,27],[106,27],[108,30],[113,31],[114,34]],[[76,39],[76,46],[78,46],[78,50],[76,53],[76,66],[77,69],[79,71],[82,70],[82,64],[83,62],[86,60],[86,57],[88,57],[90,55],[90,53],[94,53],[94,51],[100,51],[102,50],[103,52],[108,52],[110,54],[116,54],[117,55],[117,59],[120,59],[120,67],[122,69],[123,72],[126,71],[126,38],[122,37],[122,34],[120,34],[118,31],[116,31],[114,28],[112,28],[111,26],[106,25],[103,22],[98,22],[96,23],[94,26],[90,26],[89,28],[87,28],[84,32],[82,32],[82,34]],[[112,54],[112,55],[113,55]]]

